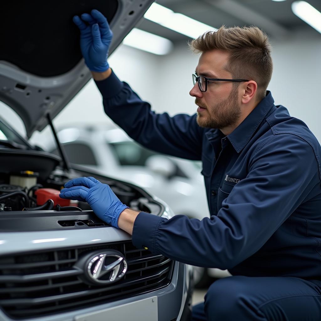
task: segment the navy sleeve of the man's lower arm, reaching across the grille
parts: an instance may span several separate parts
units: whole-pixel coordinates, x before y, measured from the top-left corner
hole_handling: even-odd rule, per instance
[[[244,261],[320,185],[311,146],[291,134],[273,136],[251,157],[248,170],[217,216],[166,220],[140,213],[134,222],[134,245],[204,267],[229,269]]]

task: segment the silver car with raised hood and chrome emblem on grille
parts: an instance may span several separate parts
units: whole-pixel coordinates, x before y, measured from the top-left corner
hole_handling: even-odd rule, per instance
[[[72,16],[92,8],[106,15],[111,53],[151,3],[3,4],[0,100],[22,118],[28,137],[48,123],[56,136],[51,119],[90,79]],[[141,187],[70,165],[63,152],[32,146],[1,119],[0,320],[187,320],[191,267],[135,248],[87,204],[59,199],[64,183],[79,176],[109,184],[135,210],[173,215]]]

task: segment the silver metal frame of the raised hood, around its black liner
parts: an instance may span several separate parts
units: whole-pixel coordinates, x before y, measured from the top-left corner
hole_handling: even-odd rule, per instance
[[[110,23],[113,40],[109,55],[139,22],[153,1],[118,0],[117,12]],[[26,73],[11,63],[0,61],[0,100],[20,115],[27,136],[30,137],[35,130],[41,131],[47,126],[47,113],[50,113],[51,118],[56,117],[90,79],[91,73],[83,59],[66,74],[55,77],[39,77]],[[17,82],[26,86],[26,90],[16,90]],[[28,96],[26,92],[29,92]]]

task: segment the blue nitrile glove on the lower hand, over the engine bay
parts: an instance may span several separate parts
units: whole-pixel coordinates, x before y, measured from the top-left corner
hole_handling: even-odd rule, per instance
[[[118,217],[128,206],[124,205],[107,184],[93,177],[71,179],[60,191],[61,198],[87,202],[102,220],[118,227]]]

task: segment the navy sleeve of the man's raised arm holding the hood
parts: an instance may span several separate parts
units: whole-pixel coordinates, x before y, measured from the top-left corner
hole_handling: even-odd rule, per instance
[[[203,129],[197,125],[196,115],[156,114],[114,73],[96,85],[105,113],[136,142],[156,152],[201,160]]]

